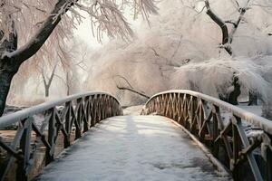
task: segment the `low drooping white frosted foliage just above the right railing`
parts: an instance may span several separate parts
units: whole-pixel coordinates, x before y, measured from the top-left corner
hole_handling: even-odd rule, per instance
[[[262,76],[264,66],[258,65],[256,61],[246,57],[225,57],[190,62],[172,74],[171,88],[198,90],[218,97],[219,94],[228,94],[235,73],[242,92],[256,92],[262,100],[267,100],[271,84]]]

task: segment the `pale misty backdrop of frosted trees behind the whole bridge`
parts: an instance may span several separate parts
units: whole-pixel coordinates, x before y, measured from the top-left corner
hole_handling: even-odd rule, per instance
[[[233,72],[241,84],[242,96],[257,92],[260,100],[271,98],[272,32],[271,8],[254,5],[234,35],[229,56],[219,47],[221,32],[202,11],[203,2],[167,0],[158,4],[159,14],[149,21],[132,21],[130,10],[125,14],[134,30],[131,41],[103,36],[102,43],[92,35],[91,23],[86,18],[66,40],[66,67],[55,61],[43,61],[33,67],[24,63],[15,76],[7,104],[32,106],[67,94],[104,90],[112,93],[122,105],[136,105],[147,99],[131,88],[151,96],[162,90],[190,89],[218,97],[231,89]],[[228,0],[210,1],[220,17],[236,19],[238,11]],[[83,14],[86,15],[87,14]],[[231,24],[228,24],[231,26]],[[54,56],[54,55],[52,55]],[[55,68],[49,96],[44,96],[44,81]]]

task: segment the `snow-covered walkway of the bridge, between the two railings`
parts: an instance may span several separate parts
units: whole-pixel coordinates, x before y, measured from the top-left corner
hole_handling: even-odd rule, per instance
[[[38,180],[227,180],[169,119],[105,119],[45,167]]]

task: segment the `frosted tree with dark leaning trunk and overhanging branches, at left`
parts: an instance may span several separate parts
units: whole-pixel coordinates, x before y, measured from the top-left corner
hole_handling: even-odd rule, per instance
[[[63,24],[58,31],[69,33],[82,21],[79,12],[85,11],[98,40],[103,33],[129,39],[132,31],[121,11],[124,6],[133,7],[135,16],[157,13],[152,0],[1,0],[0,115],[16,72],[41,49],[58,24]]]

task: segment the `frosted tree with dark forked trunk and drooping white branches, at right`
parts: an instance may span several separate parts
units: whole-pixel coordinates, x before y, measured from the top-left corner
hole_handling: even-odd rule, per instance
[[[268,41],[264,39],[268,38],[267,31],[272,27],[272,2],[268,0],[181,0],[181,2],[193,12],[193,19],[199,18],[196,22],[201,24],[198,31],[202,33],[202,37],[207,36],[209,39],[209,36],[217,38],[220,35],[221,39],[216,40],[217,45],[213,44],[214,47],[218,46],[220,52],[213,55],[214,59],[180,67],[176,76],[183,75],[183,80],[186,80],[184,79],[186,75],[189,78],[187,84],[200,81],[194,83],[200,90],[218,92],[220,99],[232,104],[238,104],[241,86],[249,91],[249,104],[257,101],[257,94],[267,95],[268,92],[263,88],[268,87],[269,80],[263,76],[261,67],[264,65],[258,59],[271,55],[270,51],[265,51],[261,47],[267,46],[267,49],[270,47]],[[212,28],[219,31],[203,33],[202,29],[201,32],[203,24],[207,22],[212,24],[210,30]],[[212,44],[209,44],[209,47],[212,47]],[[210,77],[209,71],[212,72]],[[210,86],[203,81],[201,77],[203,74],[206,75],[205,78],[211,78],[214,85]],[[219,76],[222,76],[222,79],[219,79]],[[263,86],[258,86],[260,84]],[[211,90],[210,87],[215,89]]]

